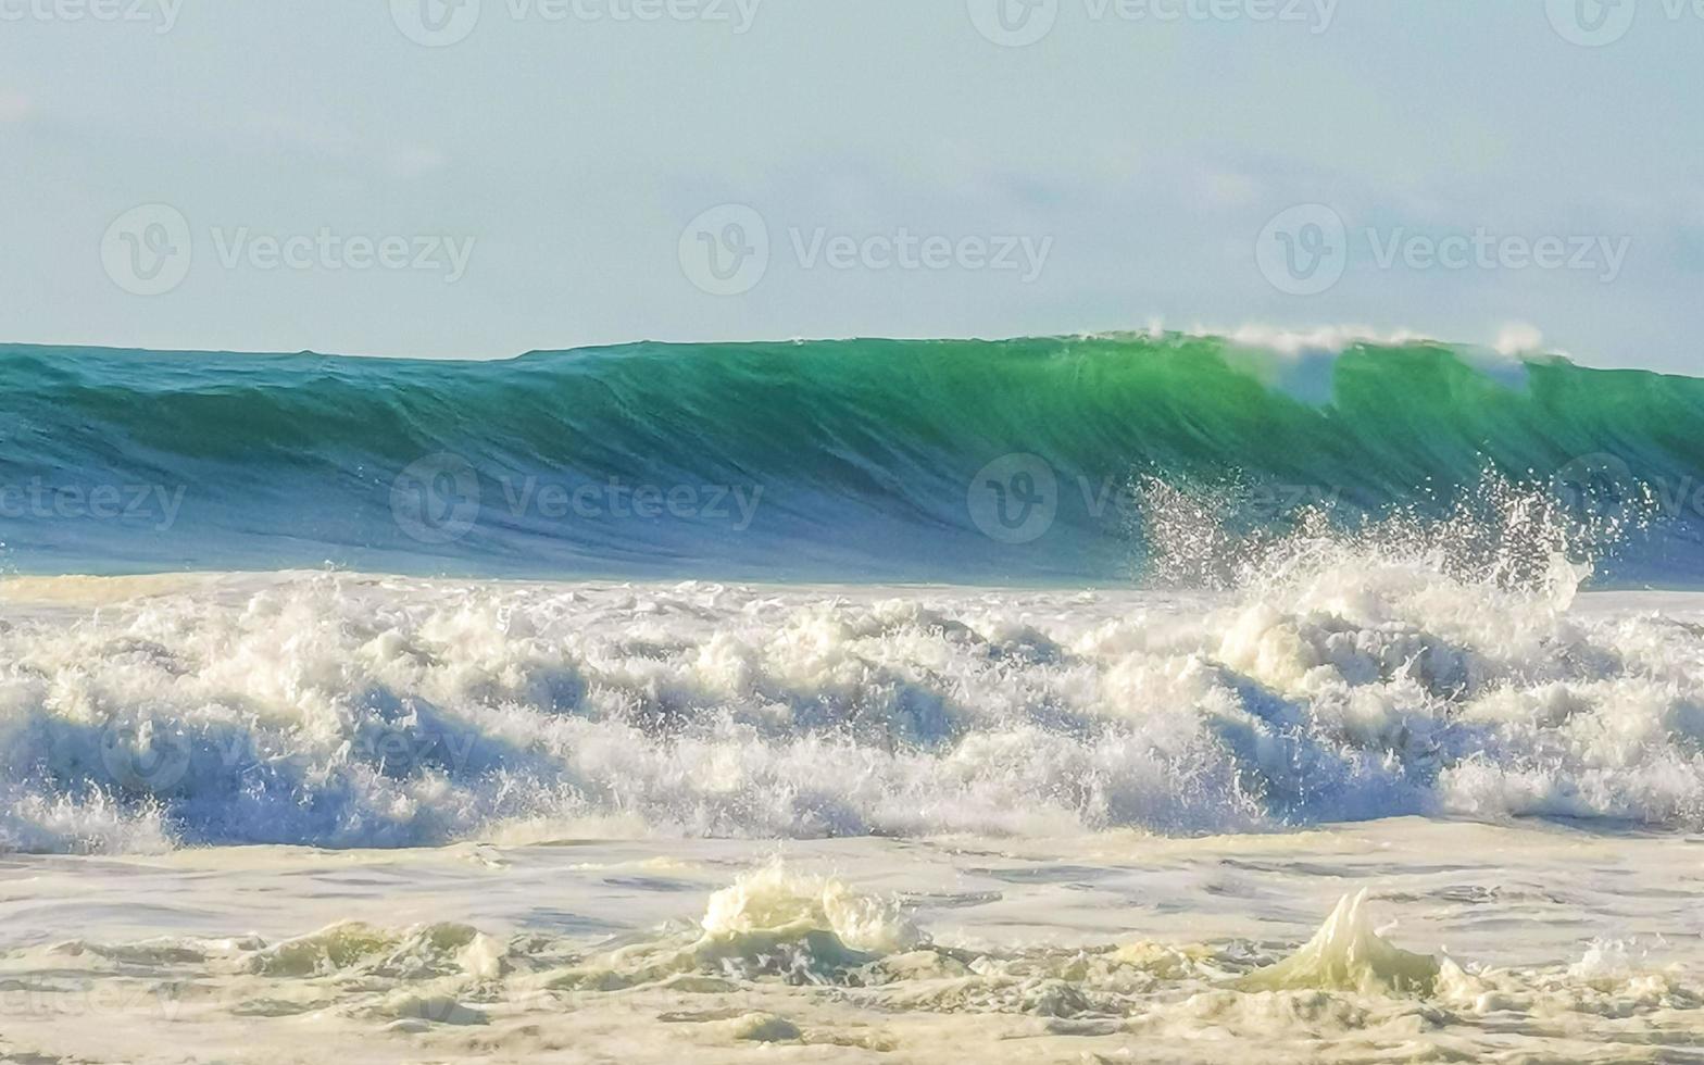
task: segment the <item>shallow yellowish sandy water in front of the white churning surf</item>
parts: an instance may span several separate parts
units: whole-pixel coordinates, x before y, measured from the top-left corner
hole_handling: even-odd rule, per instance
[[[14,857],[0,1051],[1680,1062],[1704,1039],[1701,889],[1697,837],[1416,818]]]

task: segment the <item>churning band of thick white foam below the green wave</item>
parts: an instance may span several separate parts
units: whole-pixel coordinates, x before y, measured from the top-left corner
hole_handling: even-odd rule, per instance
[[[1339,550],[1227,595],[285,574],[14,596],[0,842],[1704,823],[1704,630],[1571,612],[1574,578]]]

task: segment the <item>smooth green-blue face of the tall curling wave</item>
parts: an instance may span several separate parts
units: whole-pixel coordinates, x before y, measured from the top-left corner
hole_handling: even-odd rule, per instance
[[[0,346],[0,566],[22,573],[1099,583],[1198,567],[1145,486],[1212,498],[1235,556],[1315,513],[1445,518],[1491,474],[1609,515],[1602,579],[1704,576],[1704,382],[1431,343]]]

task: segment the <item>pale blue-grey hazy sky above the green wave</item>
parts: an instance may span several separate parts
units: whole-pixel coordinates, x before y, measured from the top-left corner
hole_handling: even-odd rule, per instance
[[[1704,375],[1701,56],[1682,0],[0,0],[0,341],[1360,325]]]

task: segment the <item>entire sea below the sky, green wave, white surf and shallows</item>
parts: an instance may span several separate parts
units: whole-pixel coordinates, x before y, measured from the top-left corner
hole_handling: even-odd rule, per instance
[[[0,395],[0,1060],[1704,1060],[1704,382],[1142,334]]]

